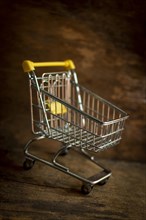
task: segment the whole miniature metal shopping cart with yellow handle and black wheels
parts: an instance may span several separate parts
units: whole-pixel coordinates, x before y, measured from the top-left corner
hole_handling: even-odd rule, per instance
[[[62,67],[63,71],[38,76],[35,67]],[[96,184],[105,184],[111,171],[99,164],[90,152],[99,152],[119,144],[128,115],[80,86],[71,60],[42,63],[26,60],[23,69],[29,75],[31,124],[35,135],[24,148],[24,169],[28,170],[35,161],[40,161],[79,179],[84,194],[88,194]],[[57,140],[63,146],[57,150],[51,162],[29,150],[34,141],[44,138]],[[58,162],[58,157],[71,148],[102,170],[85,178]]]

